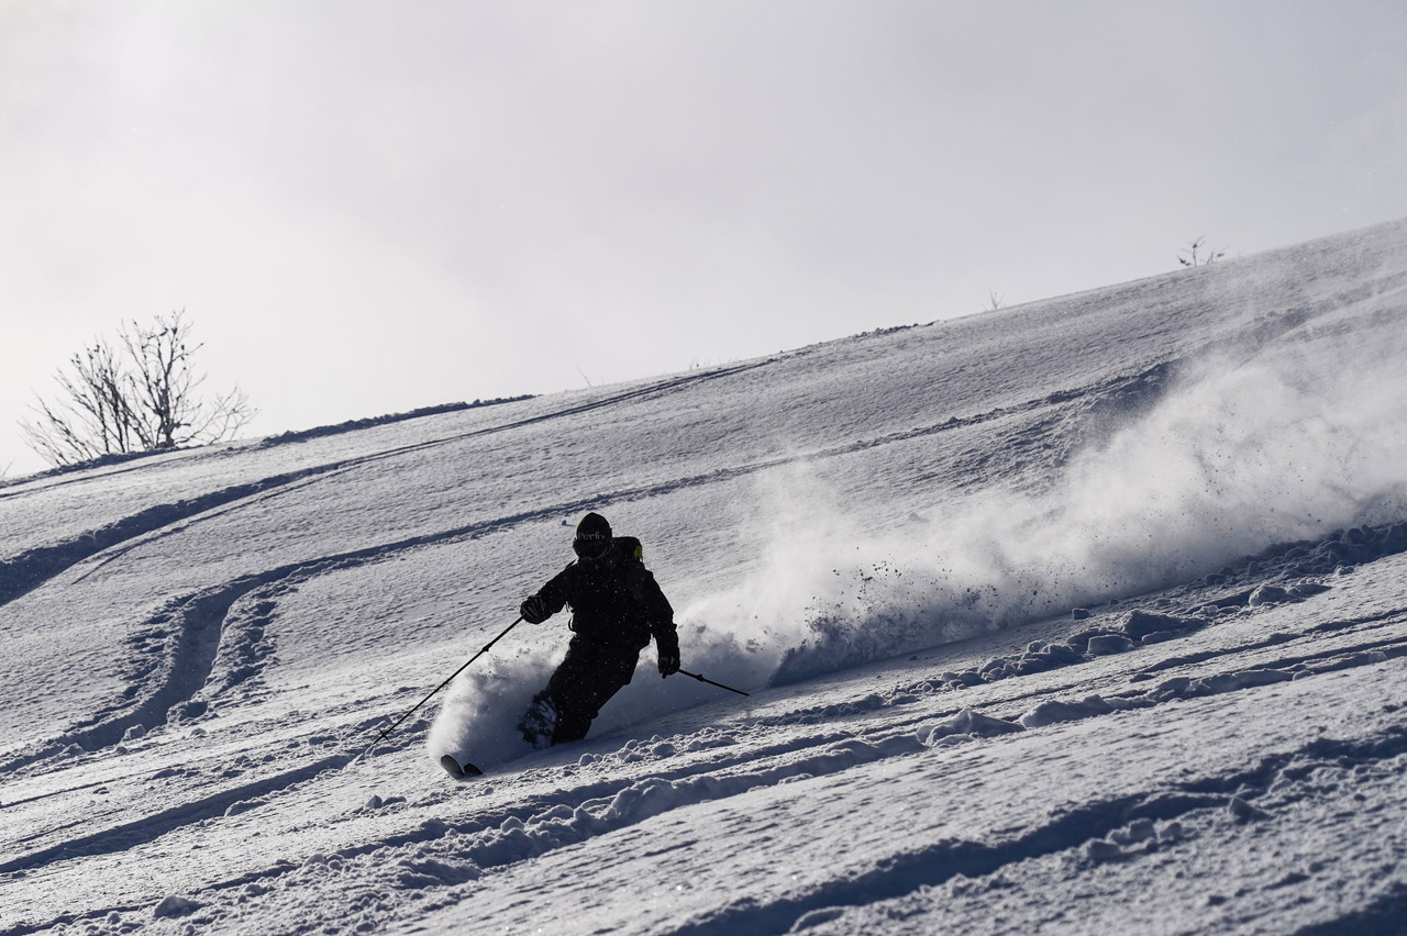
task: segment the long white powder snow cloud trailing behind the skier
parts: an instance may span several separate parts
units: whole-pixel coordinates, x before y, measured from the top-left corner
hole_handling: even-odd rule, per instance
[[[781,684],[1213,572],[1269,547],[1407,517],[1400,349],[1292,346],[1209,361],[1043,493],[986,492],[857,534],[802,472],[772,478],[768,561],[688,610]],[[1387,340],[1386,344],[1399,342]]]

